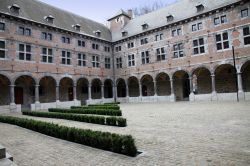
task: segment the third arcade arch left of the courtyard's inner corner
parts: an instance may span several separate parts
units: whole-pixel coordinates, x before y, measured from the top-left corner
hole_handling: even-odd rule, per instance
[[[89,81],[85,77],[80,77],[76,79],[76,98],[81,101],[81,104],[86,104],[86,100],[88,100],[88,86]]]

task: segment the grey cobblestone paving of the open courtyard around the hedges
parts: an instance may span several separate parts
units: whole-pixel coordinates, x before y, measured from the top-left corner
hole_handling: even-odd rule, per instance
[[[3,123],[0,144],[19,166],[250,165],[250,102],[122,104],[121,108],[126,128],[28,118],[131,134],[143,151],[134,158]]]

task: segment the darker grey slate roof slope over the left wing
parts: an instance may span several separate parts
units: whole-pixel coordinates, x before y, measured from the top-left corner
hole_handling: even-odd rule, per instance
[[[99,30],[101,31],[100,39],[111,41],[110,30],[105,25],[38,0],[0,0],[0,12],[10,14],[8,7],[13,4],[20,7],[19,17],[51,25],[44,19],[46,16],[51,15],[54,17],[53,26],[74,31],[72,25],[79,24],[81,26],[80,33],[95,37],[93,32]]]

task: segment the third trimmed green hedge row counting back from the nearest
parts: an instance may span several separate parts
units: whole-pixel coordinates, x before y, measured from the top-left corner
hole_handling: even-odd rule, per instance
[[[81,107],[71,107],[71,109],[49,108],[48,110],[49,112],[61,112],[61,113],[122,116],[121,110],[83,109]]]

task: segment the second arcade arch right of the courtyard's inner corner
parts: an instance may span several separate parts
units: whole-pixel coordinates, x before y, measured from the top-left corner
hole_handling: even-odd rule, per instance
[[[128,89],[129,89],[129,97],[140,96],[139,81],[137,77],[131,76],[128,78]]]

